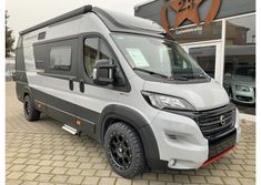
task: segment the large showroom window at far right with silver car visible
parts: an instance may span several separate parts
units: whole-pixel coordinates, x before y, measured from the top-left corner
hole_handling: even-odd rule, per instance
[[[255,16],[225,24],[223,85],[240,112],[255,114]]]

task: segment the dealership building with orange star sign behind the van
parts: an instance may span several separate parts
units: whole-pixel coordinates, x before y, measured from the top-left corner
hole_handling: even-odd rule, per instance
[[[255,115],[255,0],[152,0],[134,10],[161,24],[241,113]]]

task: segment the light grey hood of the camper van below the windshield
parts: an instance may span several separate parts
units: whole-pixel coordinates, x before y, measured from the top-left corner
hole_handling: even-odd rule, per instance
[[[224,89],[215,81],[192,84],[170,84],[144,82],[144,91],[182,97],[197,111],[211,110],[229,104],[229,96]]]

